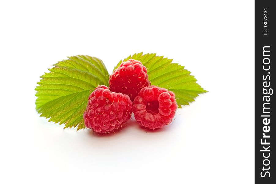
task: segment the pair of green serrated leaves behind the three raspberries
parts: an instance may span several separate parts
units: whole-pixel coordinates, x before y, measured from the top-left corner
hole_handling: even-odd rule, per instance
[[[179,108],[194,101],[198,94],[207,92],[196,83],[191,72],[172,63],[173,59],[156,54],[143,55],[143,52],[123,61],[128,59],[139,60],[147,67],[152,85],[173,91]],[[50,118],[49,121],[65,124],[64,128],[85,128],[83,113],[88,96],[98,85],[108,86],[109,74],[103,61],[91,56],[72,56],[58,62],[49,71],[40,77],[39,86],[35,88],[36,110],[40,116]]]

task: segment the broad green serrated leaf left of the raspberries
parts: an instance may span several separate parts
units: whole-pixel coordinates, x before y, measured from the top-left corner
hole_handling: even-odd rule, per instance
[[[98,85],[108,86],[109,74],[101,59],[72,56],[62,60],[40,78],[35,88],[36,110],[49,121],[65,124],[64,128],[85,128],[83,113],[91,91]]]

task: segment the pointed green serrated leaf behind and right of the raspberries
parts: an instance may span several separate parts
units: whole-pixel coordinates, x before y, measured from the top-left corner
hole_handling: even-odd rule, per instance
[[[156,56],[156,54],[143,55],[143,52],[133,54],[121,60],[114,70],[120,66],[121,62],[128,59],[139,60],[147,67],[147,74],[151,85],[173,91],[176,95],[179,108],[181,108],[181,105],[189,105],[189,102],[195,101],[194,99],[199,94],[207,92],[196,83],[197,80],[194,76],[190,75],[190,71],[177,63],[172,63],[173,59]]]

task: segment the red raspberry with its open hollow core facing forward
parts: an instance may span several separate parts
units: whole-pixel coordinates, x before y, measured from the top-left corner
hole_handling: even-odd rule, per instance
[[[177,109],[175,94],[157,86],[142,88],[133,103],[132,111],[136,121],[150,129],[169,125]]]

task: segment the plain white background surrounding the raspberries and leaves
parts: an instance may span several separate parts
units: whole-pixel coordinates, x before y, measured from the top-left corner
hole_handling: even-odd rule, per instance
[[[253,183],[253,1],[1,1],[0,183]],[[98,136],[35,111],[39,76],[66,56],[109,72],[157,53],[209,92],[156,132]]]

